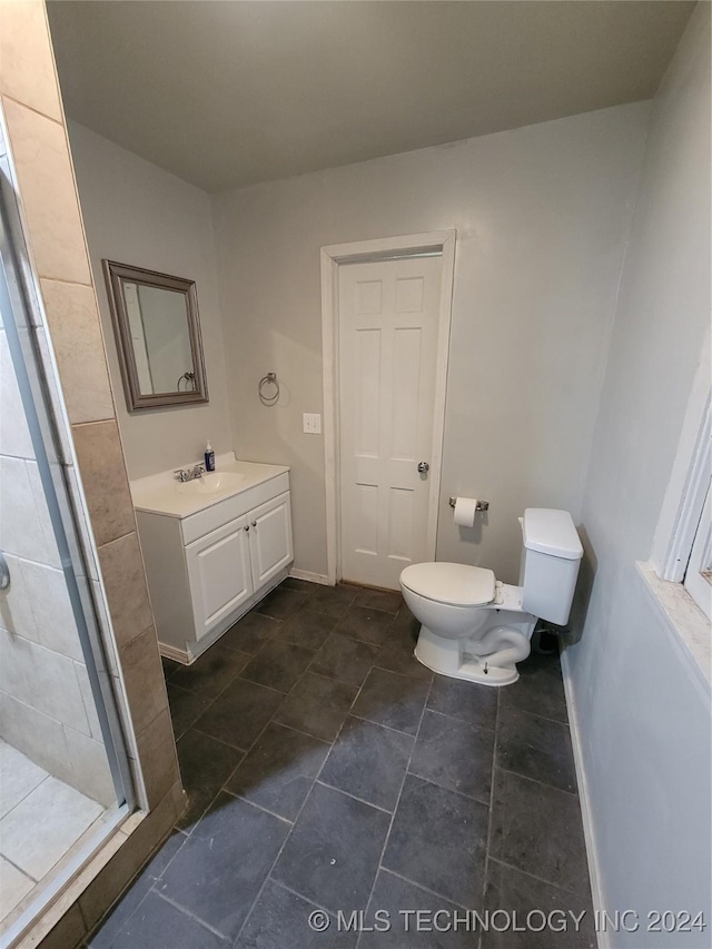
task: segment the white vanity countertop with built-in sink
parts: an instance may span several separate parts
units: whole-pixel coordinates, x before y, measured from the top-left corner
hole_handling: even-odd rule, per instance
[[[181,467],[190,468],[194,464]],[[131,497],[137,511],[189,517],[288,471],[284,465],[240,462],[234,454],[218,455],[215,472],[185,484],[176,481],[172,471],[137,478],[131,482]]]

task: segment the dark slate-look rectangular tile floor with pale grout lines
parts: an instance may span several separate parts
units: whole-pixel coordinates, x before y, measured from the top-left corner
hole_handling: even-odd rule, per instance
[[[488,689],[434,676],[416,635],[395,593],[287,580],[192,666],[166,662],[188,809],[91,949],[595,946],[557,659]],[[496,909],[587,912],[462,922]]]

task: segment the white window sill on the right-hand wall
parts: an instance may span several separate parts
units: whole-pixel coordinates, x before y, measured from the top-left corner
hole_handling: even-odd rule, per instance
[[[661,580],[647,561],[637,561],[635,566],[683,659],[709,692],[712,684],[712,636],[708,617],[682,583]]]

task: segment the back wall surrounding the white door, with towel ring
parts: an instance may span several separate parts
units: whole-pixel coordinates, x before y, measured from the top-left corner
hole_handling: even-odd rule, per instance
[[[296,566],[326,572],[319,248],[457,228],[437,556],[516,581],[526,505],[580,514],[649,107],[636,103],[212,198],[245,458],[293,467]],[[283,403],[257,383],[277,373]],[[451,494],[491,502],[461,536]]]

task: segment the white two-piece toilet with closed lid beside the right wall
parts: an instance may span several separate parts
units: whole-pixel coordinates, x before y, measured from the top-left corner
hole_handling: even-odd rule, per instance
[[[416,658],[443,675],[508,685],[530,654],[537,619],[563,625],[583,547],[567,511],[527,507],[522,524],[520,586],[491,570],[417,563],[400,574],[408,609],[422,623]]]

